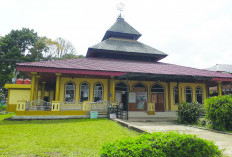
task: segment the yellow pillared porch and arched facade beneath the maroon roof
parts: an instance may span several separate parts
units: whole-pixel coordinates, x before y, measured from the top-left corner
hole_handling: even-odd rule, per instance
[[[200,94],[203,103],[209,95],[210,83],[218,85],[221,91],[222,84],[231,81],[141,73],[96,74],[27,72],[31,77],[30,97],[17,102],[16,114],[75,116],[98,111],[99,115],[106,116],[109,106],[118,105],[128,113],[127,118],[171,115],[175,118],[177,104],[188,98],[187,87],[191,89],[191,101],[198,101]],[[100,84],[97,87],[100,90],[96,89],[96,84]]]

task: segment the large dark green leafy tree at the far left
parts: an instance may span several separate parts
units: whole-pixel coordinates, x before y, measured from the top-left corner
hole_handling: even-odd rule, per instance
[[[61,46],[51,39],[39,37],[33,29],[12,30],[0,38],[0,89],[15,77],[16,63],[48,60],[49,47]]]

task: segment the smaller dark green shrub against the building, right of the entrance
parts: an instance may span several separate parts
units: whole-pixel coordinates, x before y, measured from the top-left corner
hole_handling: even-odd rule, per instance
[[[178,105],[177,115],[179,123],[196,123],[203,111],[199,103],[182,103]]]

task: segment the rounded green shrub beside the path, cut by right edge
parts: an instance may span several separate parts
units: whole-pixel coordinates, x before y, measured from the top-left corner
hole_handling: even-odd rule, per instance
[[[213,129],[232,130],[232,97],[215,96],[206,100],[206,119]]]

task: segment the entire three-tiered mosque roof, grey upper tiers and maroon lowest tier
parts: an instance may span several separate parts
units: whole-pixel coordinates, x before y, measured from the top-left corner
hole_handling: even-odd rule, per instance
[[[18,63],[23,72],[116,76],[120,79],[164,81],[232,81],[232,75],[157,62],[167,54],[137,40],[141,34],[118,18],[86,58]]]

